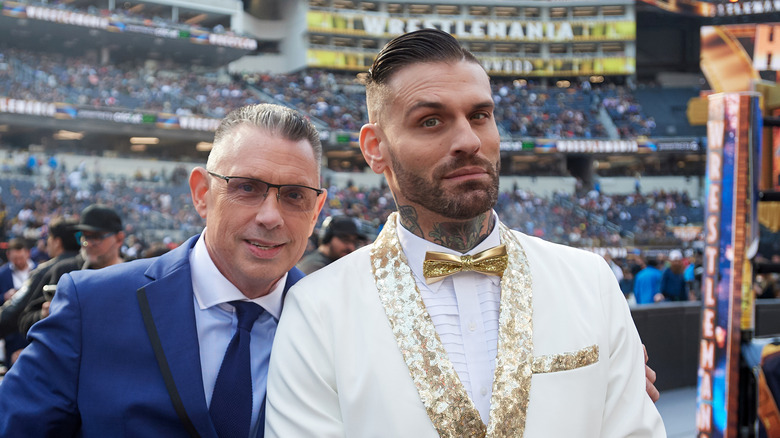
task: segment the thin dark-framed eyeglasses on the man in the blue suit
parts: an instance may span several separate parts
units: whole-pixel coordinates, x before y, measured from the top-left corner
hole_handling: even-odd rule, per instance
[[[227,196],[231,201],[247,206],[260,205],[268,197],[271,187],[276,189],[276,200],[282,209],[289,212],[309,212],[314,210],[322,189],[299,184],[271,184],[256,178],[243,176],[225,176],[208,171],[209,175],[227,183]]]

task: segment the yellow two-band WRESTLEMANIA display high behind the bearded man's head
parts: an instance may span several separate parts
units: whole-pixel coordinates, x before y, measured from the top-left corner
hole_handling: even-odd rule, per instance
[[[342,35],[348,38],[393,38],[422,28],[437,28],[464,41],[496,43],[574,44],[636,40],[636,22],[633,19],[543,21],[435,16],[418,18],[319,10],[311,10],[307,13],[307,30],[314,34]],[[605,53],[601,56],[569,54],[553,57],[478,55],[477,58],[491,75],[528,77],[627,75],[636,72],[636,59],[630,52]],[[312,48],[306,53],[306,63],[310,67],[364,71],[371,66],[374,55],[375,53],[350,48],[337,50]]]

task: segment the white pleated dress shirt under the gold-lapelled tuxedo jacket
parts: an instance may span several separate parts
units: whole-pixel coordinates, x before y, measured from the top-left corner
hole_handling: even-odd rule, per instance
[[[479,245],[466,253],[422,239],[398,224],[398,240],[414,273],[425,308],[428,310],[444,349],[460,381],[487,424],[493,376],[498,351],[498,312],[501,278],[478,272],[459,272],[433,284],[426,284],[423,261],[426,251],[473,255],[501,244],[498,217],[496,226]]]

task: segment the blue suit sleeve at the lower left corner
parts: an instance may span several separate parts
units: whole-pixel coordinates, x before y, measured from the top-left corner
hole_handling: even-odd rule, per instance
[[[59,282],[51,315],[30,330],[30,345],[0,384],[0,436],[77,434],[81,321],[76,289],[66,275]]]

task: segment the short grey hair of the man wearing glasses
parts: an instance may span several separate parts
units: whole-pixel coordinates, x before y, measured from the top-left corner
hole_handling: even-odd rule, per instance
[[[206,167],[213,169],[223,148],[221,143],[238,125],[251,125],[290,141],[306,140],[314,151],[317,171],[322,164],[322,143],[317,128],[301,113],[281,105],[261,103],[231,111],[222,119],[214,133],[214,147],[209,153]]]

